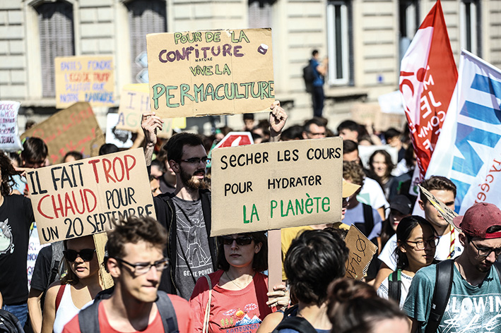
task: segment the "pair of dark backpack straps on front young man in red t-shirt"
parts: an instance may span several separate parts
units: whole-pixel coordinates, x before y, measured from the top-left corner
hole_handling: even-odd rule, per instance
[[[94,303],[78,313],[78,325],[81,333],[100,333],[99,327],[99,303],[106,298],[110,298],[113,287],[98,293]],[[177,317],[167,293],[157,291],[157,300],[155,301],[160,317],[162,318],[163,330],[165,333],[179,333],[177,326]]]

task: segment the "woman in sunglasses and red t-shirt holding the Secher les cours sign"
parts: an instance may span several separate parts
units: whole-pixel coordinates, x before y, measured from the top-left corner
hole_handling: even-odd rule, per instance
[[[267,295],[268,277],[261,273],[268,269],[266,234],[232,234],[218,241],[220,270],[196,281],[189,300],[195,332],[227,332],[239,327],[239,332],[254,333],[272,307],[288,305],[283,285],[276,286],[270,299]]]

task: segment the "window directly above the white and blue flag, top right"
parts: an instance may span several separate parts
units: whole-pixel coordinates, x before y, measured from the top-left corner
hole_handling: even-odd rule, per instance
[[[462,0],[459,10],[459,26],[461,27],[461,48],[482,56],[481,54],[481,10],[480,1]]]

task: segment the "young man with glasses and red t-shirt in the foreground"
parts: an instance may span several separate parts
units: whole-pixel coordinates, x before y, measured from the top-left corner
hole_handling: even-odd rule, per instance
[[[63,333],[193,332],[188,302],[158,291],[169,265],[163,255],[166,245],[165,230],[151,217],[129,217],[119,223],[106,245],[105,266],[114,281],[111,294],[100,294]]]

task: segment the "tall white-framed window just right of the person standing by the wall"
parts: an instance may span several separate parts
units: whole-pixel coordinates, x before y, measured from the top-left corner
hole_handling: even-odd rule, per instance
[[[330,85],[353,84],[350,18],[350,1],[331,1],[327,5],[328,82]]]

